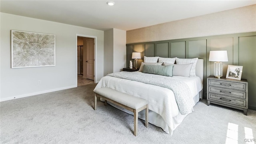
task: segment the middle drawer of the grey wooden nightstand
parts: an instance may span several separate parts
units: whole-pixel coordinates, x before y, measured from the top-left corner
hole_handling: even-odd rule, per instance
[[[209,86],[209,92],[212,93],[216,93],[216,94],[224,94],[227,96],[233,96],[236,98],[244,98],[246,96],[246,92],[245,91],[238,91],[238,90],[231,90],[231,89],[226,89],[226,88],[216,88],[216,87],[212,87]]]

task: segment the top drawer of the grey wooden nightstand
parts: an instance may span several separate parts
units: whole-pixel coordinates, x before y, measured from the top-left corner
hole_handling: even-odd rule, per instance
[[[237,82],[228,82],[221,80],[209,80],[209,86],[220,86],[222,88],[232,88],[235,90],[246,90],[246,84]]]

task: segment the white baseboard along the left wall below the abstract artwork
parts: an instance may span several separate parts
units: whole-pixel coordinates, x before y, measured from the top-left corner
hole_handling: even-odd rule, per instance
[[[44,90],[44,91],[40,91],[40,92],[34,92],[34,93],[30,93],[30,94],[22,94],[19,96],[10,96],[7,98],[1,98],[0,102],[4,102],[6,100],[13,100],[13,99],[17,99],[17,98],[24,98],[24,97],[28,97],[28,96],[34,96],[34,95],[38,95],[38,94],[45,94],[48,92],[55,92],[58,90],[65,90],[65,89],[69,89],[69,88],[76,88],[77,86],[67,86],[67,87],[63,87],[63,88],[56,88],[56,89],[52,89],[52,90]]]

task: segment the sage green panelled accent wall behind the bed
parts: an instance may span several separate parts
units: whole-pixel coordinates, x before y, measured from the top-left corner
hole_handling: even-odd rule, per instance
[[[228,65],[243,66],[242,79],[248,80],[248,107],[256,110],[256,32],[140,42],[126,44],[126,67],[132,60],[132,52],[144,56],[164,58],[201,58],[204,59],[204,98],[206,98],[206,78],[213,75],[213,63],[209,61],[210,50],[227,50],[228,62],[223,63],[223,76]]]

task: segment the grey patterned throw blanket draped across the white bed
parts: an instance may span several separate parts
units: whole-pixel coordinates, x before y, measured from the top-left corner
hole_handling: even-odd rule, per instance
[[[145,76],[145,74],[142,74],[141,72],[116,72],[108,74],[107,76],[124,78],[128,80],[134,80],[146,84],[153,84],[156,86],[169,88],[174,92],[174,96],[178,104],[180,113],[182,115],[185,115],[192,112],[194,100],[192,98],[192,94],[188,88],[188,85],[184,82],[181,82],[169,76],[160,76],[156,74],[148,74],[148,76]]]

